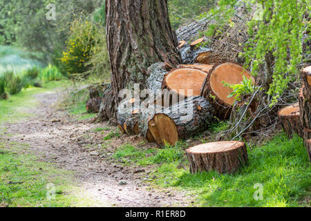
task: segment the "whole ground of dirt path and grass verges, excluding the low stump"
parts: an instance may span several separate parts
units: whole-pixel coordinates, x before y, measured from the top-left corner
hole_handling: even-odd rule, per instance
[[[65,94],[57,82],[0,101],[0,207],[310,206],[311,169],[298,135],[245,141],[249,164],[235,174],[192,175],[185,148],[214,140],[225,123],[159,147],[91,123],[86,97],[62,105]],[[56,186],[54,201],[46,200],[48,183]]]

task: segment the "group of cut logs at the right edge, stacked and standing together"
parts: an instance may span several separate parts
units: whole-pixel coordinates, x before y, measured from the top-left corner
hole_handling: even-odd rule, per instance
[[[299,103],[286,106],[279,111],[279,120],[289,137],[294,133],[303,137],[311,162],[311,66],[301,71],[303,86],[299,92]]]

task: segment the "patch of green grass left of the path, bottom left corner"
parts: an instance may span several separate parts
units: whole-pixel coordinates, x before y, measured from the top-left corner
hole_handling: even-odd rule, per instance
[[[0,142],[0,206],[62,207],[95,204],[80,195],[81,189],[75,187],[73,182],[73,172],[56,169],[51,164],[39,162],[34,155],[20,152],[21,145],[11,143],[6,146]],[[50,190],[48,185],[55,188],[55,199],[47,198]]]

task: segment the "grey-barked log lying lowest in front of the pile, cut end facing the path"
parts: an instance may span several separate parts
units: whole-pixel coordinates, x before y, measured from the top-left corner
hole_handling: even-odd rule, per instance
[[[213,121],[214,107],[204,97],[193,96],[150,117],[148,128],[158,144],[175,145],[205,131]]]

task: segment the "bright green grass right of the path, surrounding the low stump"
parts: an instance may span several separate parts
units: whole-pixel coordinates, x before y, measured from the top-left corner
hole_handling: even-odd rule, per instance
[[[234,175],[190,174],[185,148],[185,143],[151,150],[124,145],[113,157],[126,164],[156,164],[153,183],[194,192],[196,206],[310,206],[311,170],[298,136],[288,140],[280,134],[263,146],[248,146],[249,164]]]

